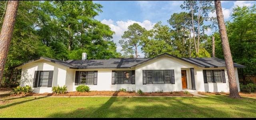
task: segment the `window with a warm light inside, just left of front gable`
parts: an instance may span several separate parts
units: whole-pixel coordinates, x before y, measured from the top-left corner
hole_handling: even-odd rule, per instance
[[[116,71],[116,84],[132,84],[132,71]]]

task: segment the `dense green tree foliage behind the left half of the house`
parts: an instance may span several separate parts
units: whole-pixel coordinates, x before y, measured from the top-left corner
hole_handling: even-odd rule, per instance
[[[0,8],[2,16],[6,2]],[[114,32],[94,19],[101,8],[92,1],[20,1],[1,84],[17,86],[20,70],[12,66],[40,56],[78,60],[86,52],[88,59],[119,57]]]

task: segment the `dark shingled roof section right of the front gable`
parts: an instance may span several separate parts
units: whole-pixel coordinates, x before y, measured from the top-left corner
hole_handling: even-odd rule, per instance
[[[203,67],[226,67],[225,60],[220,58],[182,58]],[[241,64],[234,63],[234,67],[244,68]]]

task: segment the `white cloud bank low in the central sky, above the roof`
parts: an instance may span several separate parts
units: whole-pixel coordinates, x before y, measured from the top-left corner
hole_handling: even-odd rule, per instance
[[[134,21],[134,20],[114,22],[111,19],[109,19],[109,20],[104,19],[101,21],[101,23],[108,25],[110,27],[110,29],[115,32],[115,34],[113,36],[113,41],[117,45],[118,52],[120,52],[122,50],[122,47],[120,46],[120,44],[118,42],[119,42],[119,40],[121,40],[122,35],[124,34],[124,31],[128,30],[128,26],[130,26],[134,23],[138,23],[143,28],[146,28],[146,30],[150,30],[153,28],[154,24],[156,24],[156,23],[150,22],[149,20],[144,20],[143,22],[138,22],[138,21]],[[139,55],[140,55],[140,57],[144,57],[144,54],[142,54],[140,50],[139,50]]]

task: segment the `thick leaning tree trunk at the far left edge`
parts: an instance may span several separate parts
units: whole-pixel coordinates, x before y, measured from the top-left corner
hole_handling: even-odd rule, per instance
[[[18,1],[8,1],[4,22],[0,33],[0,82],[2,81],[4,66],[12,39],[12,32],[15,24],[17,10]]]

